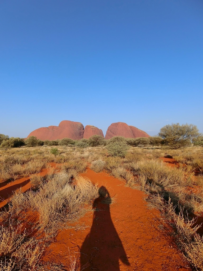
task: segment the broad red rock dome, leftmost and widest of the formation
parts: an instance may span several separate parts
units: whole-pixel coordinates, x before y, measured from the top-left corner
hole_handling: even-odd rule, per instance
[[[80,122],[63,120],[58,126],[42,127],[32,131],[31,135],[41,140],[56,140],[64,137],[71,139],[82,139],[84,135],[84,126]]]

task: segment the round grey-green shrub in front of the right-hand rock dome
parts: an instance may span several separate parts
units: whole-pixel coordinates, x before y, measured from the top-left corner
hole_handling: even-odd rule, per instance
[[[112,137],[106,149],[113,156],[125,157],[129,147],[124,137]]]

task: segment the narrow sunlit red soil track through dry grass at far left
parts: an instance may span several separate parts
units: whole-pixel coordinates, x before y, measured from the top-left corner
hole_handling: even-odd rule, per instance
[[[56,167],[55,163],[50,164],[51,167]],[[48,169],[42,169],[37,175],[45,176],[48,173]],[[30,177],[24,177],[13,182],[0,183],[0,208],[4,207],[11,199],[14,191],[21,191],[24,193],[31,188]]]

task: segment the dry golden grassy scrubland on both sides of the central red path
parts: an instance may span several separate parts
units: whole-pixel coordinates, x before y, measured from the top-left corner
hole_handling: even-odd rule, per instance
[[[123,157],[108,154],[105,146],[57,146],[55,153],[50,149],[0,150],[1,183],[26,176],[32,186],[26,193],[14,193],[2,209],[1,270],[35,270],[57,230],[91,209],[99,194],[97,185],[80,176],[87,167],[144,191],[149,208],[158,208],[173,228],[176,243],[191,266],[203,270],[202,229],[197,223],[203,212],[202,147],[130,147]],[[48,168],[45,176],[35,175],[44,168]],[[25,227],[29,214],[35,221]]]

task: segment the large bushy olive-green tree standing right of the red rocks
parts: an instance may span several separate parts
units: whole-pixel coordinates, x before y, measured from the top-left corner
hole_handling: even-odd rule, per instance
[[[200,133],[197,126],[193,124],[172,123],[162,127],[158,135],[162,137],[164,144],[173,149],[179,149],[190,145],[191,141],[198,137]]]

